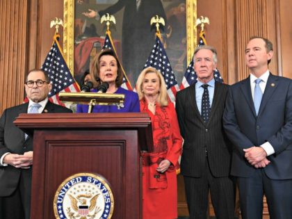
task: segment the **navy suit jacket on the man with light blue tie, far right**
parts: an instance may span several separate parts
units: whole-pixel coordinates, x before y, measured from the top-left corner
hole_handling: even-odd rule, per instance
[[[244,157],[244,148],[268,141],[275,154],[263,170],[270,179],[292,179],[292,80],[270,74],[258,116],[254,110],[250,78],[229,89],[224,113],[227,136],[234,143],[232,175],[250,177],[255,168]]]

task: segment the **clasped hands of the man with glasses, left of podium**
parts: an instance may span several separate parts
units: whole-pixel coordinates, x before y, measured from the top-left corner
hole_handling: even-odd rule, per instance
[[[33,165],[33,152],[24,154],[7,154],[3,158],[3,163],[13,165],[15,168],[29,169]]]

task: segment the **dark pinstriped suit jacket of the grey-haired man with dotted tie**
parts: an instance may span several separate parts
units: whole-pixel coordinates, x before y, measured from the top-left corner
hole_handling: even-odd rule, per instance
[[[181,156],[181,174],[201,177],[205,171],[206,149],[211,172],[215,177],[227,177],[230,170],[232,145],[222,127],[222,114],[228,86],[215,83],[211,116],[204,123],[195,100],[195,84],[177,93],[177,117],[181,136],[184,138]]]

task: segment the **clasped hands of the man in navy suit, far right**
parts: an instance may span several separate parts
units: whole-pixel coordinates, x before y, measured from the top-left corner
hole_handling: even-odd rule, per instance
[[[249,147],[248,149],[243,149],[243,152],[245,152],[245,159],[254,168],[265,168],[270,163],[266,158],[266,151],[262,147]]]

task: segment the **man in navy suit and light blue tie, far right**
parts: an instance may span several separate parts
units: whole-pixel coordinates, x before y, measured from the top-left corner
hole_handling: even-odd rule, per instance
[[[268,39],[250,39],[250,76],[231,87],[223,115],[243,219],[262,218],[263,195],[271,219],[292,218],[292,80],[269,72],[272,57]]]

